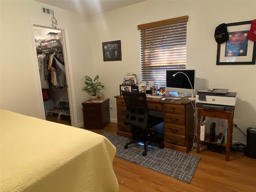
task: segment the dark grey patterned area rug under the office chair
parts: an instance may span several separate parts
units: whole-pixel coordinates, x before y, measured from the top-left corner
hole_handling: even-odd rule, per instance
[[[130,144],[128,149],[124,149],[126,142],[130,141],[129,138],[107,132],[102,133],[102,135],[108,138],[116,147],[116,157],[134,162],[185,183],[191,182],[200,161],[200,157],[168,148],[160,149],[160,147],[154,145],[148,146],[147,155],[142,156],[143,143]]]

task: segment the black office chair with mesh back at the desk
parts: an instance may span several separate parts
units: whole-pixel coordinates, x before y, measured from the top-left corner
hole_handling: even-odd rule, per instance
[[[152,142],[158,142],[161,144],[161,148],[163,148],[164,147],[163,142],[159,142],[152,137],[147,137],[148,135],[147,131],[153,126],[156,126],[157,124],[163,122],[164,119],[161,117],[149,115],[146,94],[139,93],[139,92],[131,93],[131,92],[124,92],[124,91],[122,91],[122,94],[124,96],[124,101],[126,104],[126,113],[125,113],[124,123],[130,124],[132,126],[136,126],[138,127],[138,129],[141,128],[141,134],[138,136],[138,138],[126,143],[124,148],[127,149],[129,144],[143,141],[144,143],[144,152],[142,152],[143,156],[147,155],[146,140],[152,141]]]

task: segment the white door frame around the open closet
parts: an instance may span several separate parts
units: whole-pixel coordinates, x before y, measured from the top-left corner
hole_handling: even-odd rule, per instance
[[[38,60],[37,60],[37,52],[36,52],[36,42],[34,38],[34,26],[42,27],[42,28],[50,28],[52,29],[51,25],[46,25],[42,23],[36,23],[29,21],[30,23],[30,34],[31,34],[31,41],[33,46],[33,54],[34,54],[34,66],[36,71],[36,83],[38,87],[38,99],[40,102],[40,111],[42,119],[46,119],[45,112],[44,112],[44,100],[42,96],[42,87],[41,87],[41,81],[40,81],[40,74],[39,74],[39,68],[38,68]],[[56,26],[57,27],[57,26]],[[55,29],[55,28],[53,28]],[[68,29],[64,27],[57,27],[56,30],[60,30],[62,33],[62,48],[63,48],[63,54],[64,54],[64,60],[65,60],[65,70],[66,70],[66,80],[67,80],[67,90],[68,90],[68,102],[69,102],[69,108],[70,108],[70,120],[71,125],[74,127],[78,127],[77,122],[77,113],[76,113],[76,102],[75,102],[75,96],[74,96],[74,82],[73,82],[73,73],[72,73],[72,67],[70,62],[70,50],[69,50],[69,43],[68,43]]]

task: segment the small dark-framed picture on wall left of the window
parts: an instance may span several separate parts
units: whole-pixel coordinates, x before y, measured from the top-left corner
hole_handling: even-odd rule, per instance
[[[110,41],[102,43],[104,61],[122,61],[121,41]]]

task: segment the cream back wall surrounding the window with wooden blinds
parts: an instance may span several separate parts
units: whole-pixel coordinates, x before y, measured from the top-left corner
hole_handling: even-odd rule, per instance
[[[182,8],[179,8],[182,7]],[[216,66],[217,43],[214,30],[221,23],[256,19],[255,1],[145,1],[91,18],[94,31],[94,71],[106,86],[105,96],[110,98],[114,110],[111,121],[116,122],[116,99],[119,84],[126,72],[137,74],[140,80],[140,45],[138,24],[188,15],[187,68],[196,68],[198,79],[208,88],[227,88],[237,92],[234,119],[246,133],[256,126],[256,66]],[[103,62],[102,42],[121,40],[122,61]],[[200,87],[198,87],[200,88]],[[218,119],[212,119],[217,124]],[[227,127],[227,122],[225,124]],[[223,132],[218,127],[217,132]],[[233,141],[246,142],[245,136],[234,128]]]

